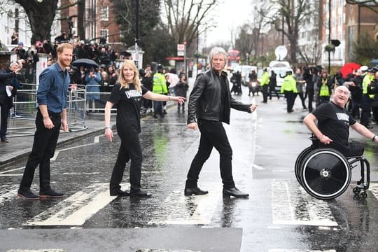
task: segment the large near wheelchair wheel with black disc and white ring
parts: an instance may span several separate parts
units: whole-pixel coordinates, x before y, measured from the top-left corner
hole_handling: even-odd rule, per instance
[[[331,148],[319,148],[304,158],[301,167],[304,190],[320,200],[342,195],[351,182],[351,168],[340,153]]]

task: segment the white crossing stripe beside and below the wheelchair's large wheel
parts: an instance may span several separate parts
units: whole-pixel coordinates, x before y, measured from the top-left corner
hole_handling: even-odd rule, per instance
[[[338,225],[328,203],[294,181],[272,181],[272,220],[275,225]]]

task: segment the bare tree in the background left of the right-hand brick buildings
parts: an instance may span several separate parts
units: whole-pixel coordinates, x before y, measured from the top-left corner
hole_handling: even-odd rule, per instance
[[[289,55],[292,63],[297,62],[298,34],[307,15],[311,15],[311,1],[308,0],[271,0],[270,18],[274,28],[282,32],[290,43]],[[283,24],[283,25],[282,25]],[[282,26],[281,26],[282,25]]]

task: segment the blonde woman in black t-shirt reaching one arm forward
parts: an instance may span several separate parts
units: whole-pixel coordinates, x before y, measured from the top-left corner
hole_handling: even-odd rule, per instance
[[[110,181],[111,196],[137,196],[151,197],[151,194],[141,190],[141,163],[142,152],[139,142],[141,132],[140,108],[141,98],[153,101],[174,101],[183,104],[184,97],[171,97],[164,94],[155,94],[146,90],[139,80],[139,71],[134,61],[126,59],[120,68],[118,82],[113,87],[111,95],[105,106],[105,136],[113,141],[111,129],[111,108],[117,106],[116,128],[121,139],[120,150],[113,167]],[[120,183],[123,179],[126,163],[130,164],[130,192],[121,190]]]

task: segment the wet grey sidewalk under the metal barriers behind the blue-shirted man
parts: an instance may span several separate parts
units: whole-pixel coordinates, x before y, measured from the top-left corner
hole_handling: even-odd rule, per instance
[[[112,116],[112,123],[116,124],[116,117]],[[24,125],[25,127],[34,125],[34,120],[25,120],[18,122],[18,127]],[[11,125],[8,125],[10,127]],[[67,144],[71,141],[87,137],[90,134],[101,134],[104,132],[104,116],[87,116],[85,120],[86,130],[80,130],[76,132],[60,132],[57,146]],[[30,129],[29,132],[35,132],[34,129]],[[17,162],[22,158],[26,158],[31,152],[33,146],[34,136],[23,137],[8,137],[9,143],[0,142],[0,169],[4,165],[10,165],[13,162]]]

